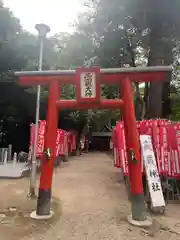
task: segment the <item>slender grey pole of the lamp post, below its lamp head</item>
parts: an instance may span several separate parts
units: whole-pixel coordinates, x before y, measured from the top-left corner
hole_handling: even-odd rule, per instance
[[[40,52],[39,52],[39,67],[38,70],[42,71],[43,62],[43,50],[44,50],[44,37],[40,37]],[[39,123],[39,110],[40,110],[40,96],[41,96],[41,86],[37,86],[37,98],[36,98],[36,121],[35,121],[35,133],[34,133],[34,146],[32,153],[32,168],[30,177],[30,189],[29,196],[35,197],[35,186],[36,186],[36,152],[38,143],[38,123]]]

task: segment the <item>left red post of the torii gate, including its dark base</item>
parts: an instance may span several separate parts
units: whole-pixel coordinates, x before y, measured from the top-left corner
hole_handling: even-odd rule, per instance
[[[37,201],[37,215],[50,214],[51,202],[51,185],[54,168],[56,135],[58,124],[58,109],[56,101],[60,97],[60,86],[56,80],[52,81],[49,86],[49,99],[47,110],[47,129],[45,135],[46,153],[42,162],[39,196]]]

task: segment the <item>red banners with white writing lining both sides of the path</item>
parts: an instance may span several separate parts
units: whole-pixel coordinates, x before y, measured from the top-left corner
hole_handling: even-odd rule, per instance
[[[30,127],[30,152],[33,148],[34,124]],[[39,121],[37,158],[41,159],[44,152],[46,121]],[[137,122],[139,135],[152,137],[157,167],[160,175],[180,178],[180,123],[166,119],[144,120]],[[124,124],[118,122],[113,129],[114,166],[122,168],[128,175],[128,160],[124,135]],[[76,150],[76,135],[62,129],[57,130],[55,156],[63,156]],[[142,172],[144,172],[142,161]]]

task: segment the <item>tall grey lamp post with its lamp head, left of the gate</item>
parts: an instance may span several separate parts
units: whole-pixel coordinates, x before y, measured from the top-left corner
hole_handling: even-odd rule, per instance
[[[43,51],[44,51],[44,40],[48,32],[50,32],[50,27],[44,23],[36,24],[36,30],[38,31],[38,36],[40,40],[40,50],[39,50],[39,65],[38,71],[42,71],[43,62]],[[30,177],[30,189],[29,196],[31,198],[36,197],[35,185],[36,185],[36,152],[37,152],[37,142],[38,142],[38,123],[39,123],[39,110],[40,110],[40,94],[41,86],[37,86],[37,98],[36,98],[36,120],[35,120],[35,133],[34,133],[34,146],[32,153],[32,168]]]

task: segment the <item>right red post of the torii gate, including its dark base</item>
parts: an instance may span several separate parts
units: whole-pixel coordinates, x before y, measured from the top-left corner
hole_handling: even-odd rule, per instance
[[[146,209],[142,184],[140,143],[136,128],[132,83],[126,78],[121,82],[121,96],[124,100],[123,120],[128,154],[132,218],[146,220]]]

